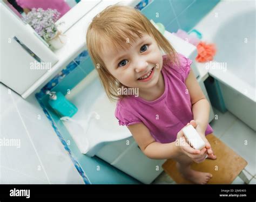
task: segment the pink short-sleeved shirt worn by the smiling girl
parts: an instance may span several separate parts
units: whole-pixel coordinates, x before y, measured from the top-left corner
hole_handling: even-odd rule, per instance
[[[178,54],[180,66],[165,64],[163,56],[165,91],[154,101],[146,101],[141,97],[129,95],[118,100],[115,116],[120,126],[129,126],[143,122],[149,128],[157,142],[174,142],[177,133],[193,120],[190,94],[187,93],[185,80],[190,72],[192,61]],[[205,135],[213,132],[208,124]]]

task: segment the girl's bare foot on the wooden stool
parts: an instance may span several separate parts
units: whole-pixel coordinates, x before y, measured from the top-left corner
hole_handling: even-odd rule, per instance
[[[211,173],[195,171],[192,170],[190,166],[183,168],[178,162],[176,163],[176,166],[181,175],[194,184],[206,184],[212,178]]]

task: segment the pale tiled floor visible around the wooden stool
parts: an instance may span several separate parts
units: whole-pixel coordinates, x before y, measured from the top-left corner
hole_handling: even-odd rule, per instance
[[[217,119],[210,123],[214,130],[214,135],[245,158],[248,165],[244,173],[250,180],[250,184],[256,184],[256,132],[230,112],[223,114],[217,109],[213,110],[214,114],[218,115]],[[152,184],[175,184],[175,182],[163,172]],[[244,182],[240,177],[237,177],[232,184],[244,184]]]

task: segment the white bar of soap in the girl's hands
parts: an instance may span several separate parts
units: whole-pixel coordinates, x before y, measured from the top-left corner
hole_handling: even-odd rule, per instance
[[[205,142],[203,141],[201,136],[197,133],[197,130],[192,125],[188,125],[187,127],[183,128],[183,133],[188,143],[194,149],[201,150],[205,147]]]

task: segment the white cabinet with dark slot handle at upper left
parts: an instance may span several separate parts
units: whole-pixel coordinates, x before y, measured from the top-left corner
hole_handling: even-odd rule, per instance
[[[58,61],[35,31],[0,2],[0,81],[22,95]]]

